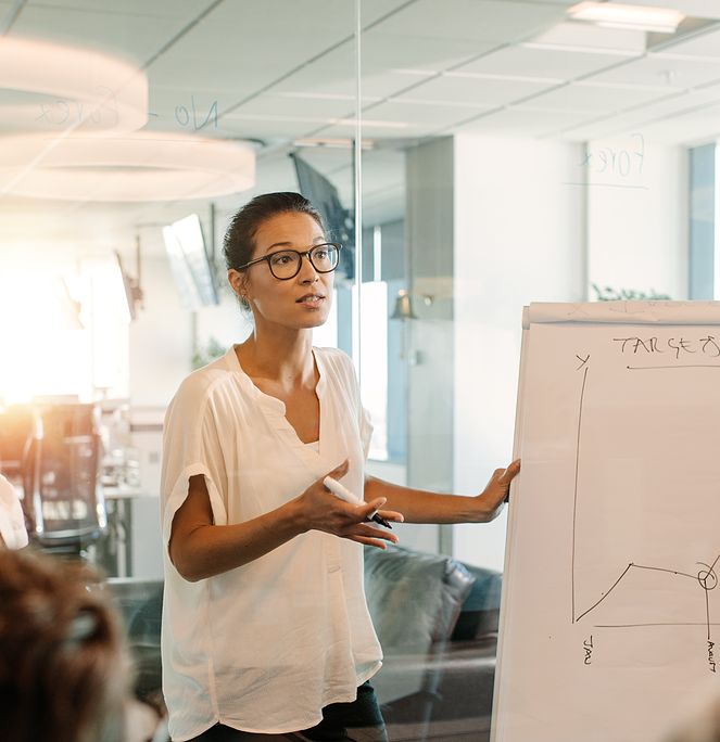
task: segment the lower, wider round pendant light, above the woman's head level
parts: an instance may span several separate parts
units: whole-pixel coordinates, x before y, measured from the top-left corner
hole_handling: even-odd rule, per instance
[[[0,137],[0,193],[61,201],[152,202],[238,193],[255,183],[247,145],[167,131],[122,137]]]

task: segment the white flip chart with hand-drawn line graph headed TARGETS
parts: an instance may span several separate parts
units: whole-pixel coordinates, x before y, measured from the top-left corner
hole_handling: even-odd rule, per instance
[[[720,303],[523,324],[492,739],[656,742],[720,694]]]

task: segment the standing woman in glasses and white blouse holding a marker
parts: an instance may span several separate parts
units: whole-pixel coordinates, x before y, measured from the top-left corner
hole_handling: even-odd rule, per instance
[[[340,246],[328,243],[307,200],[270,193],[233,217],[224,252],[254,331],[190,374],[165,420],[170,734],[383,740],[367,683],[382,654],[362,546],[397,539],[367,519],[378,510],[392,522],[490,521],[519,462],[497,470],[477,497],[366,477],[371,426],[352,362],[312,345],[330,311]],[[327,475],[366,503],[336,497]]]

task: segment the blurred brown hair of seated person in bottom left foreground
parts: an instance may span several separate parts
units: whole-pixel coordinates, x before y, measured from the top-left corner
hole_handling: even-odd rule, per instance
[[[87,567],[0,550],[3,742],[122,742],[129,670]]]

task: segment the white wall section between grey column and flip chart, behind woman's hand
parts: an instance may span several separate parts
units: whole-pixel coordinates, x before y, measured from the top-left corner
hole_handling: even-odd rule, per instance
[[[581,300],[582,148],[455,138],[454,489],[481,491],[510,461],[523,305]],[[526,492],[527,497],[533,496]],[[454,555],[502,570],[505,516],[455,526]]]

